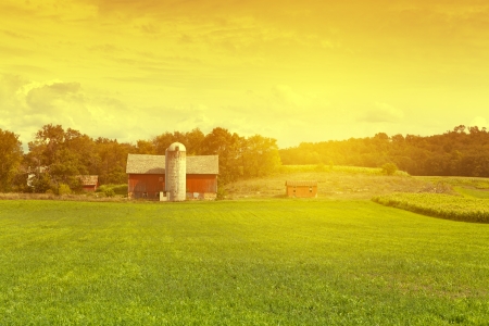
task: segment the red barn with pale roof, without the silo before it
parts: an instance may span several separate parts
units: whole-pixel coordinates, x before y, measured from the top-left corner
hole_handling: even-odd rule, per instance
[[[187,199],[215,199],[217,195],[217,155],[187,156]],[[128,198],[161,200],[165,191],[165,156],[128,154],[126,173]]]

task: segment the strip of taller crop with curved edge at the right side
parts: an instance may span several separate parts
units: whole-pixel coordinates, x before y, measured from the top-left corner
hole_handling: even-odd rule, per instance
[[[373,201],[428,216],[447,220],[489,223],[489,201],[444,193],[391,193]]]

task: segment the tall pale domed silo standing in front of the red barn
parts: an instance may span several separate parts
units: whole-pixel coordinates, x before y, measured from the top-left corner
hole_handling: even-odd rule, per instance
[[[165,190],[168,201],[184,201],[187,190],[187,149],[181,142],[165,151]]]

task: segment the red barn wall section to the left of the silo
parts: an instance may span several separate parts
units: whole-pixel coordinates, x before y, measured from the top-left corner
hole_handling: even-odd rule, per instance
[[[129,198],[160,200],[160,191],[165,189],[164,174],[129,174],[127,195]]]

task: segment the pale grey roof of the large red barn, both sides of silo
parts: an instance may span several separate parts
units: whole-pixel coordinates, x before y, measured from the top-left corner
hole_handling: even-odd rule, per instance
[[[217,155],[187,156],[187,174],[218,174]],[[127,174],[165,174],[165,155],[127,155]]]

